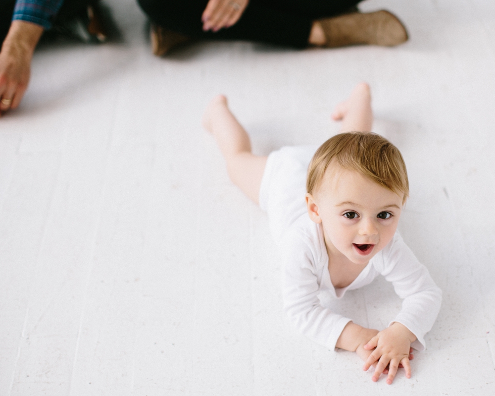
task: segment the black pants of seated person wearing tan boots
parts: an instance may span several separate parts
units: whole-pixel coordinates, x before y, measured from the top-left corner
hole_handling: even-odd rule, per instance
[[[341,14],[361,0],[250,0],[234,26],[216,33],[202,30],[208,0],[138,1],[153,22],[190,37],[304,48],[315,19]]]

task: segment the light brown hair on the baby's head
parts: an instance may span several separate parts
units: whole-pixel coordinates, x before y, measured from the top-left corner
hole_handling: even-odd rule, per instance
[[[400,151],[376,133],[340,133],[323,143],[309,163],[308,193],[313,194],[319,187],[333,160],[342,168],[355,170],[398,195],[404,194],[402,203],[409,195],[407,170]]]

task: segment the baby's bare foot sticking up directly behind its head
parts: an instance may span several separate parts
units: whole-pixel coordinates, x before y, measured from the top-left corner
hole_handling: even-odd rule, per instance
[[[341,132],[371,132],[373,111],[369,85],[357,84],[349,99],[337,105],[332,118],[342,120]]]

